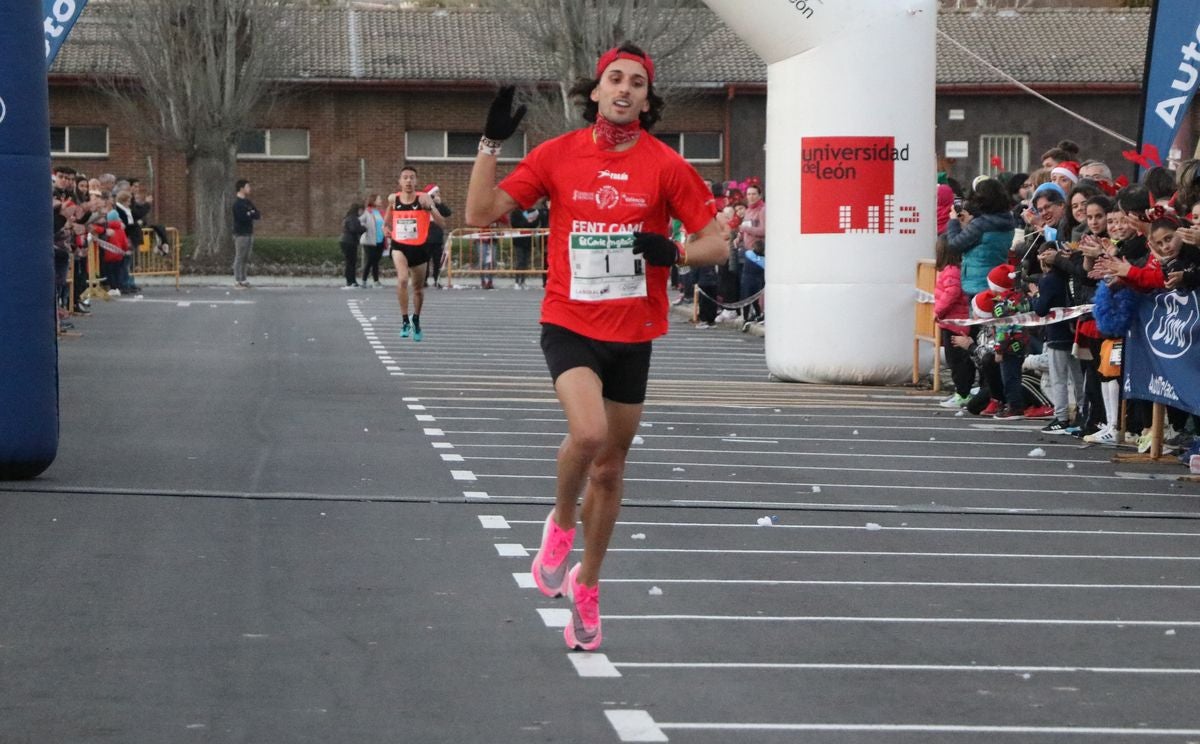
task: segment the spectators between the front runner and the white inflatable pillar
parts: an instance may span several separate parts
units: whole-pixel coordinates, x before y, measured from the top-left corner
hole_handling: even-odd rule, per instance
[[[710,184],[718,220],[730,228],[730,257],[718,266],[682,269],[672,272],[679,290],[676,305],[698,300],[696,328],[719,323],[740,324],[743,331],[767,320],[763,305],[767,256],[767,202],[757,178]],[[678,221],[672,223],[676,240],[686,235]],[[697,292],[698,290],[698,292]]]

